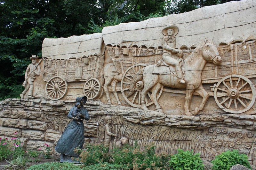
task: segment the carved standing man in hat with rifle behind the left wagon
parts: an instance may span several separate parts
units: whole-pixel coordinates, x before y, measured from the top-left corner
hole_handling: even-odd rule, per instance
[[[36,79],[36,76],[40,76],[40,62],[36,63],[38,61],[38,56],[32,55],[30,57],[31,64],[28,65],[28,68],[25,72],[25,81],[23,82],[22,86],[25,87],[24,91],[20,94],[20,98],[23,99],[24,95],[28,92],[28,98],[33,98],[32,93],[34,89],[33,82]]]

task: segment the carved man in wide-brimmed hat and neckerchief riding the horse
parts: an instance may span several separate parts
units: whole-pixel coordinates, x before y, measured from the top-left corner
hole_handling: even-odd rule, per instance
[[[182,60],[183,51],[180,49],[175,49],[176,37],[179,32],[179,28],[175,25],[168,25],[163,30],[162,33],[165,35],[162,39],[163,45],[163,61],[169,66],[175,67],[175,72],[179,82],[185,84],[184,75],[180,68],[180,61]]]

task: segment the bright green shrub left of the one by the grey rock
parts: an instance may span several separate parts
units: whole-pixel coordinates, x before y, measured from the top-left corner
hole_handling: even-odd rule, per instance
[[[178,153],[171,157],[170,168],[172,170],[204,170],[204,164],[199,157],[200,153],[193,155],[193,150],[184,152],[178,149]]]

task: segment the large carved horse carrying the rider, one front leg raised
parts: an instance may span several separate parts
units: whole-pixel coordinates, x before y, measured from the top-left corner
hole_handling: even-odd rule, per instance
[[[219,55],[216,45],[212,41],[208,41],[206,38],[204,42],[198,45],[193,52],[184,59],[184,77],[186,84],[179,83],[179,80],[175,74],[173,67],[168,66],[156,66],[156,64],[148,65],[137,72],[134,79],[131,82],[130,92],[135,91],[135,85],[138,81],[142,80],[144,83],[141,91],[141,108],[148,110],[145,105],[145,97],[148,91],[151,91],[151,98],[156,105],[156,110],[163,112],[161,106],[156,100],[157,93],[162,86],[186,89],[185,97],[185,114],[191,115],[190,103],[193,92],[197,92],[202,98],[201,105],[195,108],[195,114],[203,110],[209,94],[205,91],[202,85],[202,70],[207,62],[214,63],[215,65],[220,64],[221,57]]]

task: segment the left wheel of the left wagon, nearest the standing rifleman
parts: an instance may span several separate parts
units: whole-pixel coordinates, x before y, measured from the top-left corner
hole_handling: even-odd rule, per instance
[[[63,78],[55,76],[46,83],[45,92],[49,99],[59,100],[66,94],[67,87],[68,84]]]

